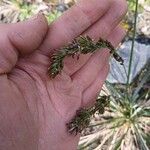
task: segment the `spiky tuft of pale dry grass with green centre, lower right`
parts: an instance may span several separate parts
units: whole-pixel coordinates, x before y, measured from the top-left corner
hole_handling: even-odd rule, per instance
[[[150,80],[150,61],[140,73],[140,82],[133,81],[132,94],[126,97],[126,87],[106,82],[110,105],[100,120],[90,124],[96,132],[83,136],[79,149],[90,150],[149,150],[150,149],[150,89],[144,89]],[[138,86],[137,86],[138,84]]]

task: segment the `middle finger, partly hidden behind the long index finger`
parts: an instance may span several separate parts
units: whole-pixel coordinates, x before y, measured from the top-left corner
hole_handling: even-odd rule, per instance
[[[102,37],[106,39],[112,30],[124,18],[126,12],[126,0],[112,0],[112,6],[109,11],[84,34],[89,35],[91,38]]]

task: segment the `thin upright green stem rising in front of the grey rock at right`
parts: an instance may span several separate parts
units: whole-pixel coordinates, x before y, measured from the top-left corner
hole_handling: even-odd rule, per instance
[[[128,76],[127,76],[127,83],[126,83],[127,97],[129,97],[129,92],[130,92],[130,75],[131,75],[133,50],[134,50],[135,35],[136,35],[137,14],[138,14],[138,0],[136,0],[136,5],[135,5],[133,39],[132,39],[130,60],[129,60],[129,66],[128,66]]]

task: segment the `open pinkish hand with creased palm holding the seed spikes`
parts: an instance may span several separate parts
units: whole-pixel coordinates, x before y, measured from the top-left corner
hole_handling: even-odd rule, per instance
[[[80,34],[117,46],[124,0],[81,0],[48,26],[42,14],[0,25],[0,149],[75,150],[80,135],[65,124],[95,102],[108,74],[109,52],[65,59],[61,75],[47,75],[50,56]]]

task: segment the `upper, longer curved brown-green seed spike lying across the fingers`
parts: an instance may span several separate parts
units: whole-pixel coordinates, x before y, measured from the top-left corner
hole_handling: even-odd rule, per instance
[[[99,38],[95,42],[89,36],[80,36],[51,57],[51,66],[48,68],[48,73],[52,78],[55,78],[63,69],[63,60],[66,56],[72,56],[73,58],[77,56],[77,59],[79,59],[80,54],[94,53],[101,48],[108,48],[114,59],[123,65],[123,59],[116,53],[115,48],[109,41]]]

